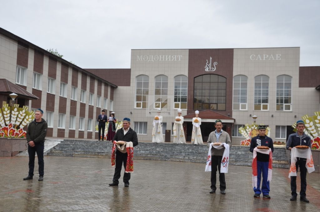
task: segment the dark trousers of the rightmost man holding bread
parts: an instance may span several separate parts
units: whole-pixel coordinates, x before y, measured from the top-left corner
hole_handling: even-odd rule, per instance
[[[297,158],[296,169],[300,167],[300,181],[301,181],[301,190],[300,197],[306,196],[307,190],[307,168],[306,168],[307,159],[306,158]],[[291,177],[291,195],[297,196],[297,177]]]

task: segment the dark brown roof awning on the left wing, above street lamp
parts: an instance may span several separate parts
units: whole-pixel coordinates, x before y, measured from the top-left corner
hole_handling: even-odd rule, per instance
[[[9,95],[11,93],[15,93],[19,96],[19,98],[23,98],[23,99],[28,99],[28,100],[39,99],[35,95],[30,94],[28,91],[26,91],[22,87],[19,87],[6,79],[0,79],[0,94]]]

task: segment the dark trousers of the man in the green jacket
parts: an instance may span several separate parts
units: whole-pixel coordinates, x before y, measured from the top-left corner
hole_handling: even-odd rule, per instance
[[[43,160],[43,150],[44,143],[36,144],[34,147],[28,145],[28,154],[29,154],[29,176],[33,176],[33,170],[35,168],[35,157],[36,153],[38,156],[38,165],[39,165],[39,176],[44,175],[44,160]]]

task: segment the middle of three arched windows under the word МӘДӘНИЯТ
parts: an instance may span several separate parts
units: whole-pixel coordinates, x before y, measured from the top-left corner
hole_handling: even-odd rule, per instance
[[[155,78],[155,108],[168,106],[168,77],[158,75]]]

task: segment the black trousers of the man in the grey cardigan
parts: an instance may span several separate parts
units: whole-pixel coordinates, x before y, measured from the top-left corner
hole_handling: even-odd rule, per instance
[[[224,178],[224,173],[220,173],[222,156],[219,155],[212,155],[211,159],[211,189],[216,190],[216,183],[217,183],[217,167],[219,170],[219,181],[220,181],[220,191],[226,190],[226,180]]]

